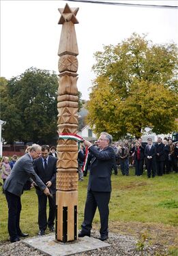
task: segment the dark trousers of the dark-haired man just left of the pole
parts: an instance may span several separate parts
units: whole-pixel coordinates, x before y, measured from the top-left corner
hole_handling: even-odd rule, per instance
[[[46,230],[48,227],[53,227],[55,225],[55,212],[56,212],[56,205],[55,205],[55,194],[53,198],[48,196],[49,202],[49,216],[47,221],[47,214],[46,214],[46,205],[47,205],[47,197],[46,195],[38,195],[38,225],[39,229]]]

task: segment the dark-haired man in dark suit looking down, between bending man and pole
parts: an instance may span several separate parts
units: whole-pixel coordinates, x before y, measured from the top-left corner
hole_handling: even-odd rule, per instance
[[[38,225],[39,225],[39,236],[43,236],[48,226],[50,231],[55,231],[55,193],[56,193],[56,164],[57,158],[49,156],[48,145],[42,145],[42,156],[34,161],[34,170],[49,188],[51,195],[48,196],[49,202],[49,216],[47,221],[46,214],[46,203],[47,197],[42,193],[42,191],[36,189],[38,195]]]

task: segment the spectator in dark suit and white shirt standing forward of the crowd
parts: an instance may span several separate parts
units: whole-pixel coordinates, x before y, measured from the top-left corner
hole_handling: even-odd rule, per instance
[[[148,144],[145,147],[145,157],[147,160],[147,176],[155,177],[155,146],[152,143],[152,139],[147,139]]]

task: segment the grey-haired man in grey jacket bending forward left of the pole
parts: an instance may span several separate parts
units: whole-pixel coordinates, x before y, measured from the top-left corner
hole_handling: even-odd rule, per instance
[[[50,191],[46,185],[40,180],[40,177],[33,169],[33,159],[38,158],[42,153],[40,145],[33,144],[29,153],[19,158],[10,175],[5,180],[3,189],[5,197],[8,201],[8,231],[10,234],[10,242],[20,241],[20,236],[25,237],[28,234],[23,233],[20,229],[20,211],[21,201],[20,196],[23,194],[23,187],[29,178],[38,185],[42,193],[50,195]]]

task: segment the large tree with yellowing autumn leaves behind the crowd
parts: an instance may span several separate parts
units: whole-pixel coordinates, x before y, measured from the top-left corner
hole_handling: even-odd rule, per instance
[[[177,46],[158,45],[146,35],[132,34],[116,46],[95,53],[97,75],[87,104],[96,133],[119,139],[140,137],[151,127],[161,134],[176,129]]]

